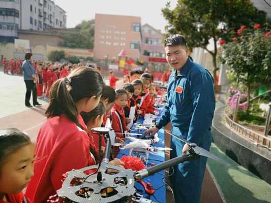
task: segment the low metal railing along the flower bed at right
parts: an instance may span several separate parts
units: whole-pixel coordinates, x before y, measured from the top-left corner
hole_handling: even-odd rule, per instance
[[[245,138],[251,140],[254,144],[257,146],[261,146],[264,148],[267,148],[268,150],[271,150],[271,139],[263,136],[262,134],[259,134],[257,132],[254,132],[253,130],[250,130],[233,120],[231,120],[227,113],[225,112],[225,118],[227,125],[233,129],[234,131],[238,132],[238,134],[242,134]]]

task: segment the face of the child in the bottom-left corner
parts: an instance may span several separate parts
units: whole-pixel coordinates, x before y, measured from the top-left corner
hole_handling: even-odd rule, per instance
[[[0,174],[0,192],[17,194],[34,175],[35,146],[29,144],[7,157]]]

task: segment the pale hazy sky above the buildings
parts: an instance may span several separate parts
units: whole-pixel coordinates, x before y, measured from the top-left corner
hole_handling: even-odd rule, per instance
[[[54,0],[55,4],[67,12],[67,27],[74,27],[82,20],[95,17],[95,13],[131,15],[141,17],[142,24],[148,23],[164,31],[167,24],[161,9],[169,0]],[[171,0],[171,8],[177,0]]]

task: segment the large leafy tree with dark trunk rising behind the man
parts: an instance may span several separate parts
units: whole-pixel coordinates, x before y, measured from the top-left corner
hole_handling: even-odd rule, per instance
[[[218,70],[218,42],[230,40],[231,32],[240,25],[266,22],[266,13],[257,10],[250,0],[179,0],[173,10],[167,3],[162,13],[169,23],[169,34],[180,33],[186,37],[188,47],[201,47],[212,55],[214,78]],[[207,49],[209,40],[214,42],[213,50]]]

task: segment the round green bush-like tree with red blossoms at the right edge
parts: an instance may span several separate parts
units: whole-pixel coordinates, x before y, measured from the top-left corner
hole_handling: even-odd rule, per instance
[[[253,29],[242,26],[233,41],[223,45],[222,63],[230,66],[230,72],[247,86],[248,109],[252,85],[270,84],[271,81],[271,31],[260,30],[260,24]]]

